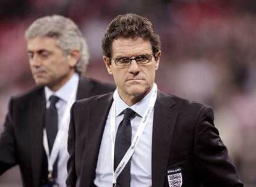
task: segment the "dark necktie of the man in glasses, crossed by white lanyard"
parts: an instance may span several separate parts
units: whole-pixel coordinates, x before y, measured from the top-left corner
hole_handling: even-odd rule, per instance
[[[132,139],[132,127],[130,125],[130,119],[134,116],[135,111],[130,108],[124,110],[124,119],[120,122],[114,145],[114,169],[121,162],[122,157],[126,154],[126,151],[130,147]],[[130,160],[124,167],[124,170],[117,177],[117,186],[129,187],[130,186]]]

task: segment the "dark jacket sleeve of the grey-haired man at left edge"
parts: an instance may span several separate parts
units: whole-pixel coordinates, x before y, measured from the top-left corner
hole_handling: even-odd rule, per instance
[[[0,175],[17,164],[15,157],[15,135],[12,119],[13,99],[9,101],[9,110],[4,122],[4,130],[0,135]]]

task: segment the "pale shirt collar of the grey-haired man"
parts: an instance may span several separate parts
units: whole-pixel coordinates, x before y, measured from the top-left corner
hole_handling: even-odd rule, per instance
[[[59,97],[61,100],[68,102],[70,95],[72,94],[72,92],[70,90],[74,90],[75,88],[78,87],[79,84],[79,74],[75,73],[70,79],[69,81],[66,82],[66,84],[64,84],[59,90],[57,90],[56,92],[53,92],[52,90],[50,90],[47,86],[45,86],[45,97],[46,97],[46,101],[49,100],[49,97],[51,97],[51,95],[56,95],[57,97]]]

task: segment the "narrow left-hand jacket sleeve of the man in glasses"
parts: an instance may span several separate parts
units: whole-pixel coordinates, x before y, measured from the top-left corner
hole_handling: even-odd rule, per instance
[[[67,161],[67,187],[76,186],[77,173],[75,170],[75,126],[74,126],[74,105],[70,109],[69,138],[67,141],[67,151],[69,151],[69,160]]]

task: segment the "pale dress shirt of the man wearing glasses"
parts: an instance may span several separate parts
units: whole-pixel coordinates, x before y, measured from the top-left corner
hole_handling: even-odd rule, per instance
[[[131,119],[132,139],[139,127],[142,116],[150,102],[153,90],[151,90],[142,100],[130,106],[137,114]],[[117,90],[113,95],[116,102],[116,131],[119,123],[122,121],[124,114],[122,111],[129,106],[121,99]],[[113,106],[111,106],[112,108]],[[110,110],[111,111],[111,110]],[[100,187],[112,186],[113,180],[113,161],[111,160],[111,124],[110,113],[106,121],[105,130],[100,145],[100,153],[96,166],[96,177],[94,183]],[[153,130],[153,111],[148,119],[147,125],[142,133],[139,144],[131,157],[130,162],[130,187],[148,187],[151,186],[151,146],[152,146],[152,130]]]

